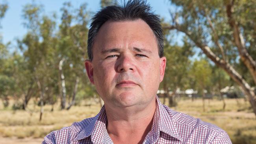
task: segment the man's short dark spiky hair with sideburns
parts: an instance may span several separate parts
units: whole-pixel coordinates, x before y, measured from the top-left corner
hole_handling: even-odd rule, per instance
[[[102,8],[92,18],[88,32],[87,53],[90,60],[93,59],[92,47],[100,27],[111,21],[144,20],[154,32],[158,42],[159,57],[163,57],[163,30],[160,18],[154,14],[146,0],[128,0],[123,5],[113,5]]]

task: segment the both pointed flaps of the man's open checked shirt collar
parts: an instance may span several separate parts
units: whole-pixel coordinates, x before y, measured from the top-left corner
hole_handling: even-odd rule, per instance
[[[91,136],[92,142],[101,143],[102,138],[104,138],[106,132],[106,124],[107,115],[105,106],[103,106],[100,112],[91,120],[90,124],[88,124],[86,127],[83,127],[74,140],[82,140]],[[160,131],[180,141],[183,141],[178,133],[177,128],[174,126],[174,122],[172,121],[170,114],[163,107],[158,96],[156,96],[156,111],[151,129],[152,134],[155,136],[151,137],[151,142],[154,143],[158,140]]]

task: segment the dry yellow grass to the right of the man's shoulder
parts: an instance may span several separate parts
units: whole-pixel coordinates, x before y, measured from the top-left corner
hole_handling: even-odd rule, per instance
[[[202,110],[202,100],[179,100],[173,107],[205,122],[210,122],[224,129],[233,144],[256,144],[256,116],[250,109],[249,102],[244,99],[226,100],[226,108],[219,100],[206,100],[206,112]]]

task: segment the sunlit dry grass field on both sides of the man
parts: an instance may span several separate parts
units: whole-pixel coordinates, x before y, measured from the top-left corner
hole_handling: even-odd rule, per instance
[[[206,100],[205,112],[202,110],[201,99],[193,102],[190,99],[177,101],[177,107],[172,109],[221,127],[227,131],[233,144],[256,144],[256,116],[248,101],[226,99],[226,108],[223,110],[222,101]],[[41,143],[50,131],[93,117],[100,111],[100,104],[93,99],[84,100],[80,106],[74,106],[69,111],[60,111],[59,104],[54,105],[54,111],[51,111],[52,106],[45,105],[43,119],[39,122],[40,107],[33,100],[28,105],[30,112],[13,111],[12,104],[4,109],[0,102],[0,144]]]

